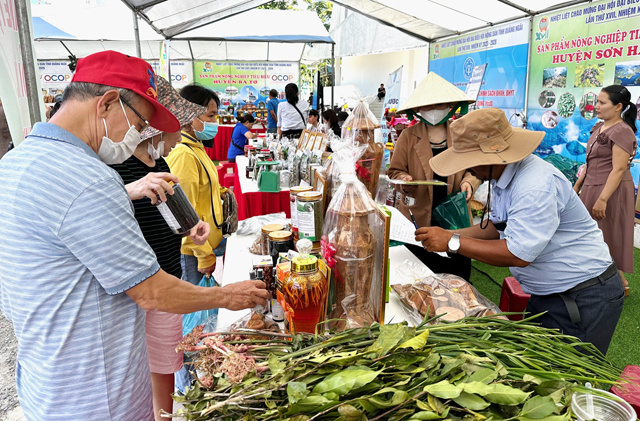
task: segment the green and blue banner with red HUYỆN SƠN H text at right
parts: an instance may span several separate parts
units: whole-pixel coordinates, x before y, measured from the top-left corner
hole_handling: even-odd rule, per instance
[[[640,0],[599,1],[537,16],[532,35],[528,128],[547,133],[536,154],[573,182],[598,122],[600,90],[625,86],[640,105]],[[636,185],[639,167],[631,168]]]

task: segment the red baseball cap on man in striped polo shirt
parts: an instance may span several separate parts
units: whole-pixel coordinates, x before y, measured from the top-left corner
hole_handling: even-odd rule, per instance
[[[133,91],[156,109],[149,120],[161,132],[180,130],[178,119],[158,102],[156,75],[146,61],[116,51],[102,51],[78,60],[71,82],[95,83]]]

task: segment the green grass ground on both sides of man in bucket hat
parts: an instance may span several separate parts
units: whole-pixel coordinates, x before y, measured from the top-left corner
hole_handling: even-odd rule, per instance
[[[635,273],[625,275],[631,287],[631,294],[625,299],[622,315],[607,352],[607,358],[619,368],[640,365],[640,266],[638,265],[640,250],[634,249],[633,261]],[[473,285],[485,297],[498,304],[502,281],[507,276],[511,276],[509,269],[496,268],[480,262],[473,262],[473,267],[471,271]],[[486,272],[493,280],[476,269]]]

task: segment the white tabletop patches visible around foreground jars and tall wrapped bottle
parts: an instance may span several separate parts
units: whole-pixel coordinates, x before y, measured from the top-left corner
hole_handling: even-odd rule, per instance
[[[235,234],[227,239],[227,253],[222,276],[224,285],[249,279],[249,271],[253,267],[252,260],[253,256],[255,256],[249,251],[249,246],[254,240],[254,236],[238,237]],[[407,260],[424,266],[405,246],[389,248],[389,284],[393,285],[401,282],[396,276],[396,270]],[[427,271],[432,273],[428,268]],[[218,327],[229,326],[249,314],[249,312],[250,310],[231,311],[221,308],[218,313]],[[385,307],[385,323],[391,323],[392,321],[393,323],[398,323],[403,320],[405,320],[405,315],[400,300],[395,294],[389,294],[389,302]]]

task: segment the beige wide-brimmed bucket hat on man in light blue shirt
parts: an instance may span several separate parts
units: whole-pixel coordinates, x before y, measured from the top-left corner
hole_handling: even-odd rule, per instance
[[[481,165],[522,161],[536,150],[544,132],[511,127],[504,111],[472,111],[449,125],[453,147],[431,158],[431,169],[443,176]]]

